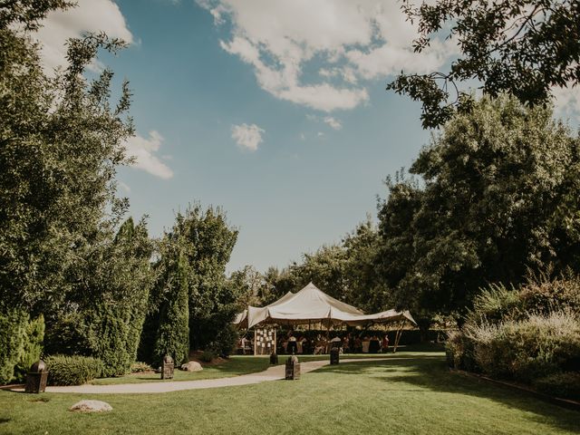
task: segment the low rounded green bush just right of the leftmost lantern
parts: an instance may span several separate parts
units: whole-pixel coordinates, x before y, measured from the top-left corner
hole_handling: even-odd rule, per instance
[[[49,385],[82,385],[102,376],[104,365],[90,356],[52,355],[45,359]]]

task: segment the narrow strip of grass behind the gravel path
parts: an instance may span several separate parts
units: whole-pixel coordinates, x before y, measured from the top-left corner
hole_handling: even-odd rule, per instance
[[[343,358],[372,358],[381,357],[384,354],[377,353],[370,354],[353,354],[343,355]],[[278,362],[283,364],[287,355],[280,355]],[[299,355],[300,361],[317,361],[326,360],[328,355]],[[203,365],[203,364],[202,364]],[[229,361],[218,365],[210,365],[204,367],[201,372],[183,372],[176,369],[173,379],[162,380],[160,373],[132,373],[125,376],[118,376],[114,378],[102,378],[92,380],[95,385],[114,385],[118,383],[141,383],[141,382],[171,382],[171,381],[199,381],[202,379],[217,379],[227,378],[231,376],[239,376],[240,374],[262,372],[270,365],[268,356],[254,357],[254,356],[231,356]]]

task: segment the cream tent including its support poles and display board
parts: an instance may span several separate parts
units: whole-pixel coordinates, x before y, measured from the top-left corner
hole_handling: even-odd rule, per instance
[[[364,314],[353,305],[345,304],[326,295],[310,283],[297,293],[288,292],[272,304],[263,307],[248,305],[237,314],[234,324],[240,329],[254,328],[254,354],[270,354],[276,349],[275,325],[321,324],[326,329],[336,325],[369,326],[372,324],[396,324],[397,332],[393,343],[396,352],[405,324],[416,326],[409,311],[388,310],[375,314]]]

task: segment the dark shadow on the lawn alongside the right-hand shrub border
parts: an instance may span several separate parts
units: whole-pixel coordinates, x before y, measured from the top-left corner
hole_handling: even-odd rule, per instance
[[[377,382],[398,384],[399,391],[437,391],[470,395],[496,401],[503,406],[533,414],[538,422],[555,428],[576,431],[580,428],[580,412],[571,411],[525,392],[490,384],[459,373],[449,372],[444,356],[420,355],[395,357],[381,362],[353,362],[326,366],[320,372],[341,374],[370,374]],[[410,388],[411,387],[411,388]],[[458,397],[458,401],[461,399]]]

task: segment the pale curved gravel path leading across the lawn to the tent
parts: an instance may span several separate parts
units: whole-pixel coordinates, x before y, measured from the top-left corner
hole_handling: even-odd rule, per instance
[[[385,361],[388,358],[350,358],[342,359],[346,362]],[[328,365],[329,360],[309,361],[300,363],[300,372],[307,373]],[[199,381],[147,382],[122,383],[116,385],[76,385],[70,387],[46,387],[46,392],[76,392],[82,394],[136,394],[156,393],[182,390],[198,390],[203,388],[232,387],[267,381],[278,381],[285,378],[285,365],[270,367],[264,372],[242,374],[231,378],[204,379]],[[14,389],[14,391],[24,391]]]

